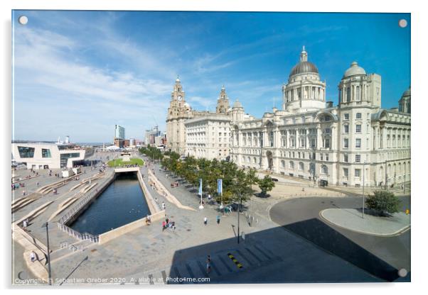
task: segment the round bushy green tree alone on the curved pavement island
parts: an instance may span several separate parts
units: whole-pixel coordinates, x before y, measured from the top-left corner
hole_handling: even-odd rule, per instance
[[[365,201],[367,208],[378,211],[382,216],[400,211],[401,200],[390,191],[374,191]]]

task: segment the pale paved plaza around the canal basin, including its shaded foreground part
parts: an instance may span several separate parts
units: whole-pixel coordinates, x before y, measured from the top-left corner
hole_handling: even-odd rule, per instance
[[[94,157],[97,157],[97,154]],[[104,155],[105,160],[107,160],[106,157]],[[147,161],[147,159],[144,160]],[[164,198],[159,187],[150,187],[147,169],[154,171],[164,189],[173,194],[183,206],[196,210],[178,208]],[[85,177],[90,177],[97,172],[97,169],[86,169]],[[50,247],[53,250],[51,266],[55,284],[383,282],[390,279],[390,277],[382,277],[378,273],[370,272],[370,269],[353,263],[348,257],[336,255],[315,245],[314,241],[307,237],[284,228],[285,223],[281,218],[284,216],[291,218],[289,220],[292,220],[292,223],[304,221],[308,216],[301,208],[311,208],[311,206],[301,201],[311,199],[320,201],[323,199],[320,196],[296,199],[291,194],[284,196],[272,193],[269,198],[252,198],[247,202],[244,213],[240,214],[242,235],[238,244],[237,212],[223,215],[218,211],[218,204],[205,204],[205,208],[199,210],[200,198],[197,195],[197,189],[186,186],[181,179],[173,177],[170,172],[161,171],[157,164],[142,167],[141,174],[159,204],[165,202],[166,216],[175,222],[176,230],[162,230],[161,221],[157,221],[151,226],[142,226],[99,245],[87,241],[79,242],[58,230],[53,223],[50,226]],[[45,179],[46,183],[51,180],[48,177],[41,179]],[[171,182],[176,181],[180,183],[179,187],[171,188]],[[97,182],[102,182],[102,179]],[[28,208],[22,208],[14,214],[14,220],[25,216],[46,201],[54,201],[28,226],[31,235],[45,243],[46,232],[42,224],[52,215],[60,202],[75,194],[74,191],[69,191],[73,185],[75,183],[70,182],[61,188],[59,196],[52,194],[43,196],[28,205]],[[278,186],[282,186],[282,189],[301,191],[301,187],[293,183],[288,187],[287,183],[281,183]],[[31,184],[28,187],[31,187]],[[306,193],[308,189],[310,188],[305,188]],[[319,191],[319,195],[328,192],[323,189],[314,189]],[[348,199],[341,197],[339,193],[332,193],[332,195],[335,196],[324,199]],[[208,203],[206,199],[205,202]],[[293,206],[290,207],[289,204],[295,206],[292,212],[289,210]],[[315,206],[311,214],[318,214],[319,211],[320,208]],[[220,224],[215,222],[217,216],[220,216]],[[248,222],[250,216],[254,216],[252,226]],[[208,218],[207,225],[203,224],[205,217]],[[400,239],[402,236],[396,238]],[[360,241],[361,247],[367,247],[363,245],[363,240],[362,238]],[[82,247],[79,248],[80,250],[72,251],[69,247],[60,247],[62,243]],[[370,238],[367,243],[371,243]],[[379,247],[378,242],[371,247]],[[378,254],[375,253],[375,255]],[[209,274],[205,268],[207,255],[210,255],[212,260],[212,270]],[[229,255],[235,257],[242,268],[238,268]],[[22,272],[31,277],[25,264],[21,263],[23,250],[19,246],[14,248],[14,260],[16,261],[14,279]],[[328,267],[325,267],[326,265]],[[410,265],[405,267],[410,270]],[[196,281],[182,282],[191,278],[196,278]]]

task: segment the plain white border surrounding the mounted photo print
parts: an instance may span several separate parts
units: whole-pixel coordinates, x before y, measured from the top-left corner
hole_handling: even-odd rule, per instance
[[[10,152],[10,136],[11,136],[11,9],[84,9],[84,10],[171,10],[171,11],[349,11],[349,12],[410,12],[412,13],[412,94],[414,96],[412,107],[412,283],[411,284],[282,284],[282,285],[228,285],[228,286],[196,286],[180,289],[156,289],[152,291],[161,291],[162,293],[171,294],[189,294],[206,292],[210,294],[222,294],[225,291],[231,292],[248,292],[260,294],[267,288],[268,292],[281,291],[299,292],[299,294],[370,294],[371,291],[382,292],[387,294],[419,294],[422,293],[422,288],[427,274],[427,230],[425,224],[427,221],[424,217],[427,215],[428,208],[426,194],[422,183],[426,178],[424,173],[424,160],[426,153],[423,152],[425,143],[427,142],[425,121],[422,121],[424,114],[422,111],[427,108],[428,97],[427,91],[422,89],[427,88],[424,84],[424,77],[427,72],[427,10],[424,8],[422,1],[248,1],[248,0],[218,0],[218,1],[202,1],[202,0],[166,0],[166,1],[138,1],[138,0],[66,0],[66,1],[49,1],[49,0],[6,0],[1,1],[1,33],[2,45],[1,57],[3,70],[1,71],[1,89],[3,91],[2,99],[2,123],[4,130],[2,133],[2,149],[1,149],[1,182],[5,188],[3,195],[4,214],[2,226],[1,247],[3,260],[0,277],[3,282],[3,288],[9,288],[11,282],[11,265],[10,265],[10,211],[9,211],[9,163],[11,159]],[[426,79],[426,78],[425,78]],[[422,178],[423,177],[423,178]],[[6,262],[6,263],[5,263]],[[328,265],[326,265],[328,267]],[[282,289],[282,290],[280,290]],[[426,288],[424,288],[426,289]],[[32,294],[45,294],[46,289],[31,290]],[[54,290],[58,292],[58,289]],[[94,290],[95,291],[95,290]],[[126,292],[136,291],[139,294],[146,290],[127,289]],[[9,290],[8,293],[22,294],[23,290]],[[28,292],[28,291],[27,291]],[[76,290],[61,290],[61,294],[72,294]],[[103,292],[114,294],[117,289],[104,289]]]

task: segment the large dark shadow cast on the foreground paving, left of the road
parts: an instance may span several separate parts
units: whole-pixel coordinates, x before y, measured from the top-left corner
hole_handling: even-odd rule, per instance
[[[207,269],[208,255],[210,271]],[[371,262],[375,273],[382,278],[392,278],[392,272],[397,273],[374,257]],[[165,271],[159,273],[165,284],[385,282],[282,227],[241,235],[239,245],[235,237],[176,250],[169,277],[164,275]],[[149,274],[149,277],[154,276],[155,273]],[[209,281],[198,281],[204,278]]]

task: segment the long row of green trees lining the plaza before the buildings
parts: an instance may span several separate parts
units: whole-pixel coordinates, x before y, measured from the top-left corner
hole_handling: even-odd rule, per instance
[[[263,179],[257,177],[255,169],[240,169],[233,162],[196,159],[186,157],[181,159],[176,152],[159,154],[155,147],[147,147],[140,150],[153,160],[161,160],[161,165],[178,177],[186,179],[188,184],[198,188],[199,179],[202,179],[202,189],[205,194],[210,194],[216,201],[225,204],[247,201],[253,195],[252,186],[257,184],[266,196],[267,191],[274,188],[274,182],[268,175]],[[157,149],[156,149],[157,150]],[[217,192],[217,179],[223,179],[223,195]]]

